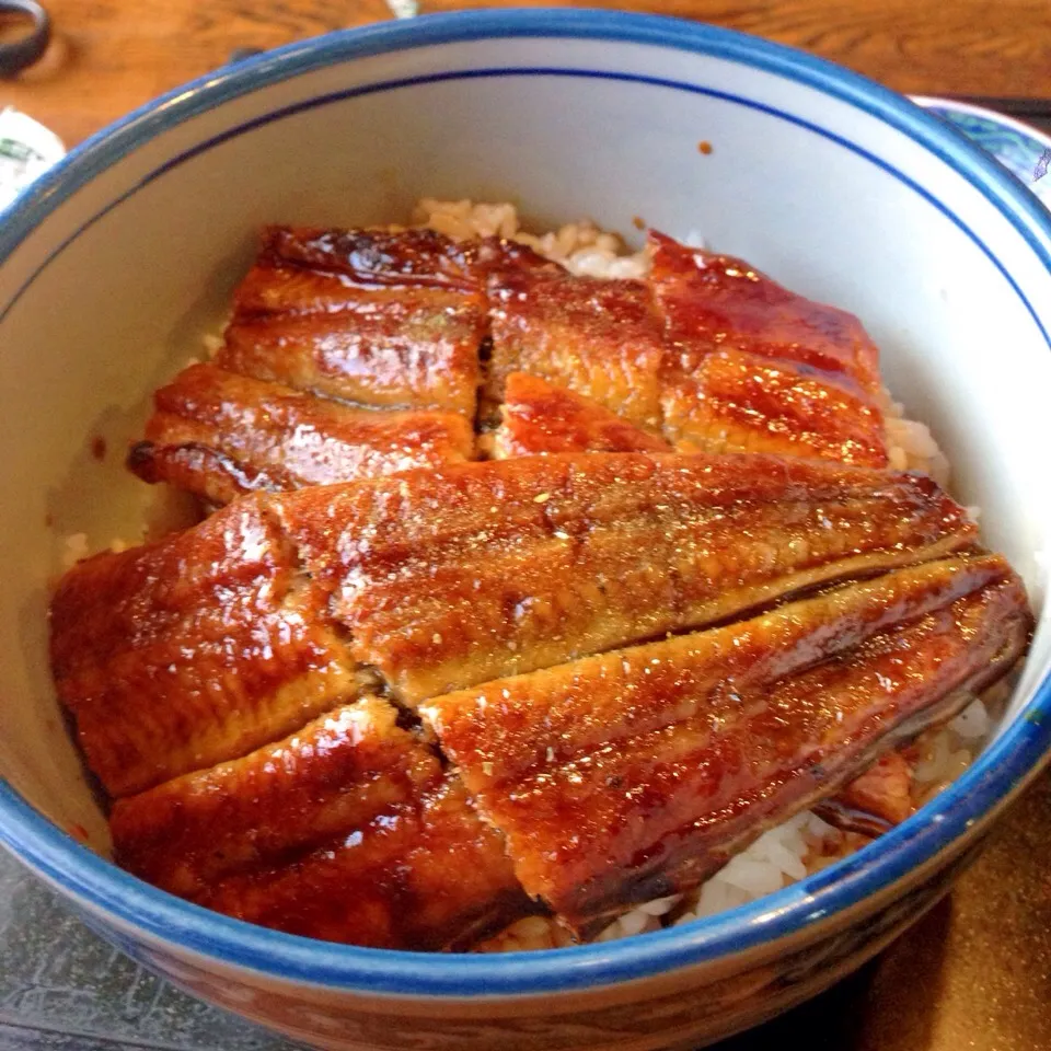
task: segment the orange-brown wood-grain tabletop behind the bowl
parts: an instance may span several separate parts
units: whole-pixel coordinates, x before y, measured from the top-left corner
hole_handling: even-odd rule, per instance
[[[384,0],[45,0],[56,39],[0,82],[11,103],[68,145],[222,65],[390,18]],[[546,0],[557,3],[558,0]],[[1051,0],[590,0],[700,19],[794,44],[899,91],[1051,96]],[[420,0],[425,12],[510,3]]]

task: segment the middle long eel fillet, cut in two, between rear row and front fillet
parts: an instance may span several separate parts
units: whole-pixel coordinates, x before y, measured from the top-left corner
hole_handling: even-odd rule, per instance
[[[929,480],[819,461],[454,464],[257,494],[86,559],[54,596],[51,662],[119,796],[243,755],[370,675],[415,704],[974,538]]]

